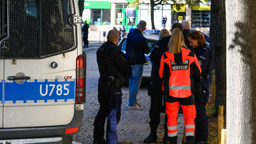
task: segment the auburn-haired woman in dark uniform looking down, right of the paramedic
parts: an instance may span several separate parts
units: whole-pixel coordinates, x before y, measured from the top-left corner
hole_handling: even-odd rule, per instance
[[[207,143],[208,139],[208,117],[205,105],[209,99],[209,72],[211,70],[211,52],[207,47],[205,37],[198,31],[193,31],[188,36],[190,46],[197,55],[197,59],[201,65],[202,81],[201,88],[203,93],[195,95],[195,108],[197,109],[197,117],[195,119],[195,141],[198,143]]]

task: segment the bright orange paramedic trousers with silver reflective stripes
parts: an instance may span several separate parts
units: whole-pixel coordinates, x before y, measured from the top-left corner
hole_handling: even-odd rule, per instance
[[[169,95],[165,95],[167,114],[167,129],[168,137],[177,137],[177,117],[179,111],[179,104],[182,107],[185,123],[185,135],[186,137],[194,137],[195,133],[195,101],[193,95],[186,98],[175,98]],[[177,143],[177,141],[170,141],[171,143]]]

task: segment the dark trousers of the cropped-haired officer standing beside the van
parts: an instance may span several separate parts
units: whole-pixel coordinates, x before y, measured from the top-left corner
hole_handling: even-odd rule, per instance
[[[99,79],[98,101],[99,111],[94,121],[93,139],[103,139],[104,125],[107,118],[107,143],[117,143],[117,124],[121,116],[121,88],[108,85],[107,79]]]

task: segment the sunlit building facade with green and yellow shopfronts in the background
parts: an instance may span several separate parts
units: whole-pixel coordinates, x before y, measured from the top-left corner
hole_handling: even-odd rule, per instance
[[[141,3],[136,9],[136,17],[127,17],[127,8],[133,0],[91,0],[85,1],[83,11],[83,21],[90,24],[91,31],[109,31],[113,27],[125,26],[127,31],[135,28],[140,20],[147,21],[147,29],[151,29],[151,8],[150,2]],[[187,19],[191,23],[191,29],[209,34],[211,21],[211,1],[200,3],[189,7],[180,5],[177,10],[176,5],[157,5],[154,11],[155,29],[162,29],[161,19],[167,16],[165,29],[170,29],[173,23]]]

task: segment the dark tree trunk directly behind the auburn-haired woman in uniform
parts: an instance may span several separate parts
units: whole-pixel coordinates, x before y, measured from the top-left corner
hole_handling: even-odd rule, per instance
[[[226,113],[226,15],[225,0],[211,1],[211,29],[210,48],[212,52],[212,66],[216,71],[216,99],[215,105],[224,106]]]

